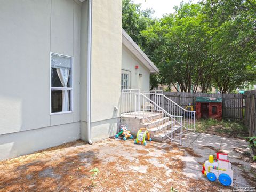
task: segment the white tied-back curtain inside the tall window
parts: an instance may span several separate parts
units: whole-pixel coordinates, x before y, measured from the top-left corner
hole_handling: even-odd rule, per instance
[[[70,69],[56,68],[56,71],[63,87],[67,87]],[[68,90],[62,90],[62,111],[69,111]]]

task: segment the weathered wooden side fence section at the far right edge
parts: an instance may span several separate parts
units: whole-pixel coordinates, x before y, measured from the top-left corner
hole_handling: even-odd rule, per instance
[[[256,135],[256,90],[246,91],[244,124],[248,128],[249,136]]]

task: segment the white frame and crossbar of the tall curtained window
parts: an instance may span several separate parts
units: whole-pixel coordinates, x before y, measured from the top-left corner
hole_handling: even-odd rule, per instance
[[[52,54],[55,55],[60,55],[63,57],[67,57],[67,58],[71,58],[72,59],[72,63],[71,63],[71,87],[52,87]],[[69,55],[64,55],[64,54],[60,54],[60,53],[54,53],[54,52],[50,52],[50,115],[58,115],[58,114],[67,114],[67,113],[73,113],[73,82],[74,82],[74,64],[73,64],[74,58],[72,56]],[[53,112],[52,113],[52,90],[70,90],[70,111],[60,111],[60,112]]]

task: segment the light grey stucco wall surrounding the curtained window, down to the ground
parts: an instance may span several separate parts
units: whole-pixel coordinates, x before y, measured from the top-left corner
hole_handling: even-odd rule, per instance
[[[80,14],[73,0],[1,2],[0,159],[79,138]],[[50,52],[74,57],[74,113],[50,115]]]

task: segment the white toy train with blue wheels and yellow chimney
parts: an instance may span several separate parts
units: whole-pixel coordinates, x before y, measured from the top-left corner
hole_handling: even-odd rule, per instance
[[[217,152],[217,160],[214,160],[213,155],[209,155],[209,160],[203,165],[204,176],[210,181],[218,179],[224,186],[233,186],[233,170],[227,157],[228,154]]]

